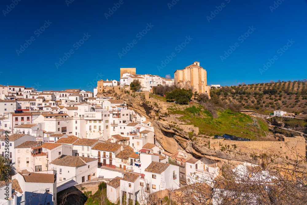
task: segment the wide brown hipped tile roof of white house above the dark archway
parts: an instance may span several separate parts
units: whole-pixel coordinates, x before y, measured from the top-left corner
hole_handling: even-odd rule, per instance
[[[70,156],[62,155],[57,159],[53,160],[51,164],[67,166],[67,167],[80,167],[85,165],[87,162],[98,160],[90,157]]]

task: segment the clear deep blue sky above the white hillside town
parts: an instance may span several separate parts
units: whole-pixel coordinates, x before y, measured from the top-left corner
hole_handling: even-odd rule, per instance
[[[2,0],[0,84],[92,91],[95,79],[119,80],[121,67],[173,77],[194,61],[207,70],[209,85],[306,78],[306,0],[177,1]]]

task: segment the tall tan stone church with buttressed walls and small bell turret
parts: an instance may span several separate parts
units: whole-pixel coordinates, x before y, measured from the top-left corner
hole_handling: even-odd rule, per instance
[[[192,87],[193,91],[207,93],[210,97],[210,86],[207,85],[207,71],[200,67],[197,61],[182,70],[176,70],[174,72],[174,82],[175,85],[179,85],[181,88]]]

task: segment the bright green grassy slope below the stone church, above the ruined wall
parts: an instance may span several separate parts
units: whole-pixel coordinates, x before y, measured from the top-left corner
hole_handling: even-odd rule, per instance
[[[191,118],[190,114],[178,110],[176,107],[170,107],[169,109],[172,114],[184,115],[178,119],[186,124],[193,124],[199,128],[200,134],[208,136],[227,133],[251,140],[265,140],[265,132],[268,132],[268,124],[264,120],[257,119],[260,126],[260,129],[258,129],[255,126],[247,125],[247,123],[253,123],[251,116],[238,112],[232,113],[230,110],[218,111],[218,118],[213,118],[207,110],[199,106],[200,116]]]

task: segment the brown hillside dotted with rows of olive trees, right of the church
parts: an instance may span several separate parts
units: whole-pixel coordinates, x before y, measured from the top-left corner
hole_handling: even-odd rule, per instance
[[[276,109],[303,114],[307,108],[306,81],[257,83],[210,90],[210,95],[228,103],[242,104],[245,109],[269,115]]]

